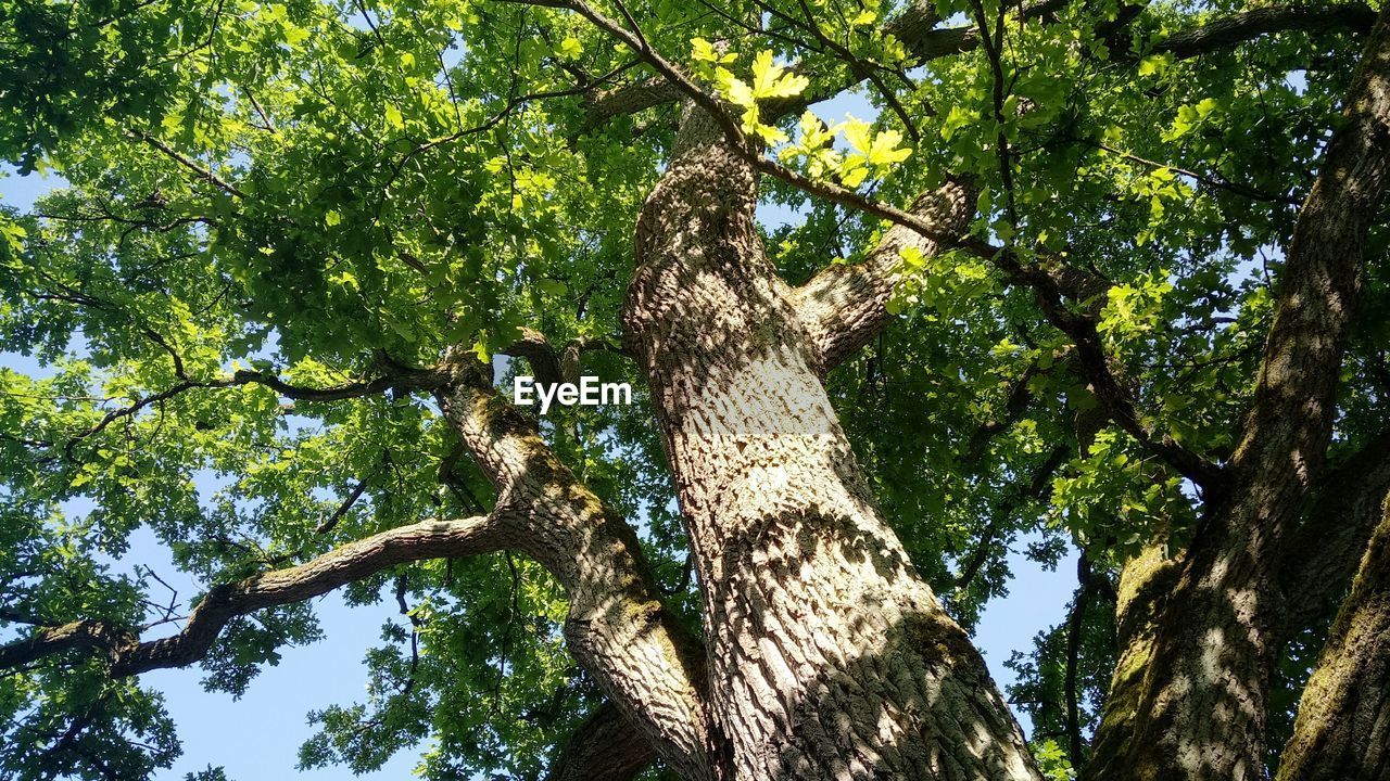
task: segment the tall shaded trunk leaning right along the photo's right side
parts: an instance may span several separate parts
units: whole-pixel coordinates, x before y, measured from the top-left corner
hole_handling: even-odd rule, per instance
[[[1182,577],[1163,596],[1154,639],[1143,641],[1154,645],[1136,696],[1112,693],[1106,703],[1091,778],[1264,777],[1269,670],[1279,648],[1279,543],[1302,514],[1327,449],[1362,245],[1390,170],[1384,13],[1344,114],[1294,229],[1225,489],[1211,498]]]

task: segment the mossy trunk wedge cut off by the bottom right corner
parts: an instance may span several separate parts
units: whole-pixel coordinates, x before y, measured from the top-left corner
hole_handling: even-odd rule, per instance
[[[1279,781],[1390,780],[1390,503],[1302,693]]]

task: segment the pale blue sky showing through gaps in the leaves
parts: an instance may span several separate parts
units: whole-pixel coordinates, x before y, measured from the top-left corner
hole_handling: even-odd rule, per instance
[[[873,115],[873,108],[858,97],[817,108],[830,118],[842,118],[845,113]],[[13,174],[13,170],[6,172]],[[57,176],[0,178],[0,203],[25,210],[40,193],[63,183]],[[776,221],[791,218],[791,214],[767,217]],[[22,356],[0,354],[0,360],[18,371],[43,371]],[[211,492],[215,486],[200,484],[200,489]],[[1009,556],[1015,574],[1009,596],[991,603],[976,630],[977,645],[1001,687],[1013,680],[1004,667],[1011,652],[1031,649],[1037,632],[1061,623],[1076,586],[1074,553],[1069,553],[1055,571],[1047,571],[1019,553],[1027,542],[1029,539],[1017,541]],[[128,568],[136,563],[153,567],[183,598],[202,591],[202,586],[174,570],[163,546],[143,529],[135,535],[129,554],[117,566]],[[343,778],[349,774],[336,767],[302,774],[295,771],[299,745],[311,732],[306,714],[313,709],[348,705],[364,696],[363,653],[379,641],[381,625],[395,614],[395,609],[389,603],[348,607],[335,592],[316,600],[316,611],[325,639],[285,649],[279,666],[265,668],[240,699],[204,692],[199,684],[202,671],[196,667],[160,670],[142,677],[146,685],[164,693],[183,743],[183,756],[171,770],[157,774],[158,781],[178,781],[185,773],[208,764],[225,767],[235,781],[307,781]],[[417,748],[404,748],[379,771],[360,778],[409,778],[417,755]]]

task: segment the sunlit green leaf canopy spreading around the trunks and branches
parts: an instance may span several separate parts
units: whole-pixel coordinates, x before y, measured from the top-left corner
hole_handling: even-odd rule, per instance
[[[976,11],[935,6],[942,28]],[[1156,44],[1247,4],[1070,3],[1027,24],[1011,11],[997,96],[983,49],[919,63],[884,35],[901,3],[632,7],[648,44],[728,101],[767,160],[898,206],[972,176],[976,238],[1108,281],[1091,303],[1145,421],[1213,460],[1230,453],[1277,247],[1355,36],[1291,31],[1179,58]],[[1127,28],[1106,25],[1127,10]],[[18,367],[0,370],[3,639],[167,618],[156,574],[128,556],[139,529],[211,588],[491,506],[427,393],[292,400],[221,384],[236,371],[329,388],[455,343],[493,360],[523,327],[620,343],[634,220],[678,111],[596,120],[595,94],[657,76],[578,15],[495,0],[0,0],[0,18],[14,21],[0,31],[0,157],[65,182],[32,210],[0,210],[0,349]],[[872,120],[776,110],[860,82],[856,111]],[[887,229],[781,179],[763,192],[767,215],[795,214],[763,225],[792,283],[862,261]],[[1088,422],[1094,389],[1030,290],[960,252],[901,263],[892,328],[827,388],[885,516],[966,625],[1006,593],[1008,550],[1055,564],[1084,549],[1113,577],[1158,529],[1191,529],[1191,485]],[[1384,274],[1372,270],[1347,361],[1341,442],[1379,425]],[[517,367],[496,363],[505,384]],[[696,627],[642,378],[610,352],[587,353],[585,371],[632,382],[639,403],[559,410],[545,434],[639,527]],[[563,593],[521,556],[399,566],[349,599],[399,599],[403,614],[368,655],[364,702],[310,714],[304,767],[370,770],[428,742],[425,778],[537,778],[599,702],[564,650]],[[1087,727],[1112,621],[1093,600]],[[1040,734],[1058,728],[1063,632],[1011,663],[1016,696],[1052,703],[1023,706]],[[245,692],[284,646],[318,638],[309,605],[239,620],[202,661],[204,682]],[[179,750],[157,693],[76,657],[0,678],[0,731],[14,778],[145,778]],[[1058,742],[1036,746],[1066,777]]]

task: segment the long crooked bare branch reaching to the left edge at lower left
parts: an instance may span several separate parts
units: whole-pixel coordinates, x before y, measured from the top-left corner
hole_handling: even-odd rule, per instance
[[[110,660],[111,677],[183,667],[202,659],[238,616],[303,602],[406,561],[486,553],[509,542],[507,525],[498,517],[421,521],[352,542],[297,567],[214,586],[174,636],[140,642],[110,621],[81,620],[43,628],[0,646],[0,668],[68,650],[103,652]]]

